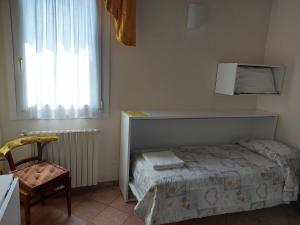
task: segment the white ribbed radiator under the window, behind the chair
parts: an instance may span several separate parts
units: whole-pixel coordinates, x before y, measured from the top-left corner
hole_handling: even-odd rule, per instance
[[[99,130],[31,131],[26,134],[57,135],[58,141],[46,145],[43,158],[69,169],[72,187],[97,184]],[[36,146],[32,146],[32,153],[36,153]]]

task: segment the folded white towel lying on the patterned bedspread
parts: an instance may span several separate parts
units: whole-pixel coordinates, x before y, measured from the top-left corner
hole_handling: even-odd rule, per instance
[[[184,161],[179,159],[172,151],[146,152],[144,159],[156,170],[182,168]]]

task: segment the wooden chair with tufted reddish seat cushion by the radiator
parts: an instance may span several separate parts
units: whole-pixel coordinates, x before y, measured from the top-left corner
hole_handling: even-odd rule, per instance
[[[25,224],[30,225],[30,207],[34,204],[42,202],[45,205],[45,199],[53,194],[66,191],[68,215],[71,215],[71,177],[68,170],[43,161],[42,153],[46,144],[51,141],[57,141],[57,136],[25,136],[17,138],[6,143],[0,149],[0,156],[4,156],[8,163],[12,174],[19,178],[20,200],[24,205]],[[37,144],[37,156],[23,159],[15,162],[11,150],[16,147]],[[35,161],[34,164],[17,169],[18,166]],[[34,199],[37,200],[34,200]],[[46,219],[46,218],[45,218]]]

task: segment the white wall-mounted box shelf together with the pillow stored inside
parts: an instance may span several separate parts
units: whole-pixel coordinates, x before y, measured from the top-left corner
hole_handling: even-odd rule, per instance
[[[241,92],[237,87],[239,82],[239,74],[242,73],[242,70],[248,70],[247,73],[243,72],[243,80],[241,82],[243,85],[247,86],[247,80],[249,80],[249,87],[246,87],[245,92]],[[264,72],[267,71],[265,74]],[[269,73],[268,73],[269,71]],[[259,76],[258,76],[258,73]],[[246,75],[245,75],[246,74]],[[216,79],[216,93],[224,95],[251,95],[251,94],[274,94],[278,95],[281,93],[283,86],[283,78],[285,74],[284,66],[276,65],[260,65],[260,64],[240,64],[240,63],[220,63],[218,64],[217,79]],[[242,76],[242,75],[241,75]],[[248,77],[247,77],[248,76]],[[265,76],[265,77],[264,77]],[[261,81],[257,80],[257,87],[260,90],[264,90],[264,85],[266,86],[265,90],[270,90],[270,84],[267,84],[267,76],[271,76],[269,83],[273,85],[273,91],[249,91],[255,89],[254,78],[260,77],[263,78]],[[248,79],[250,78],[250,79]],[[252,79],[252,80],[251,80]],[[251,82],[250,82],[251,80]],[[268,86],[268,87],[267,87]],[[237,92],[237,89],[239,92]]]

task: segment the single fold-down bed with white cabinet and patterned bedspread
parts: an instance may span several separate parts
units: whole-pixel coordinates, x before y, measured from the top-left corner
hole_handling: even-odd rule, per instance
[[[119,186],[124,200],[138,200],[135,213],[145,225],[296,200],[297,170],[292,162],[300,165],[300,160],[295,155],[287,159],[276,152],[282,146],[273,144],[267,148],[255,142],[243,147],[235,145],[245,138],[273,140],[277,120],[276,113],[261,110],[123,111]],[[162,146],[186,160],[183,170],[165,171],[163,176],[147,168],[141,153],[164,150],[160,149]],[[238,154],[229,154],[231,151]],[[201,158],[213,156],[216,158],[203,164],[211,165],[199,165]]]

